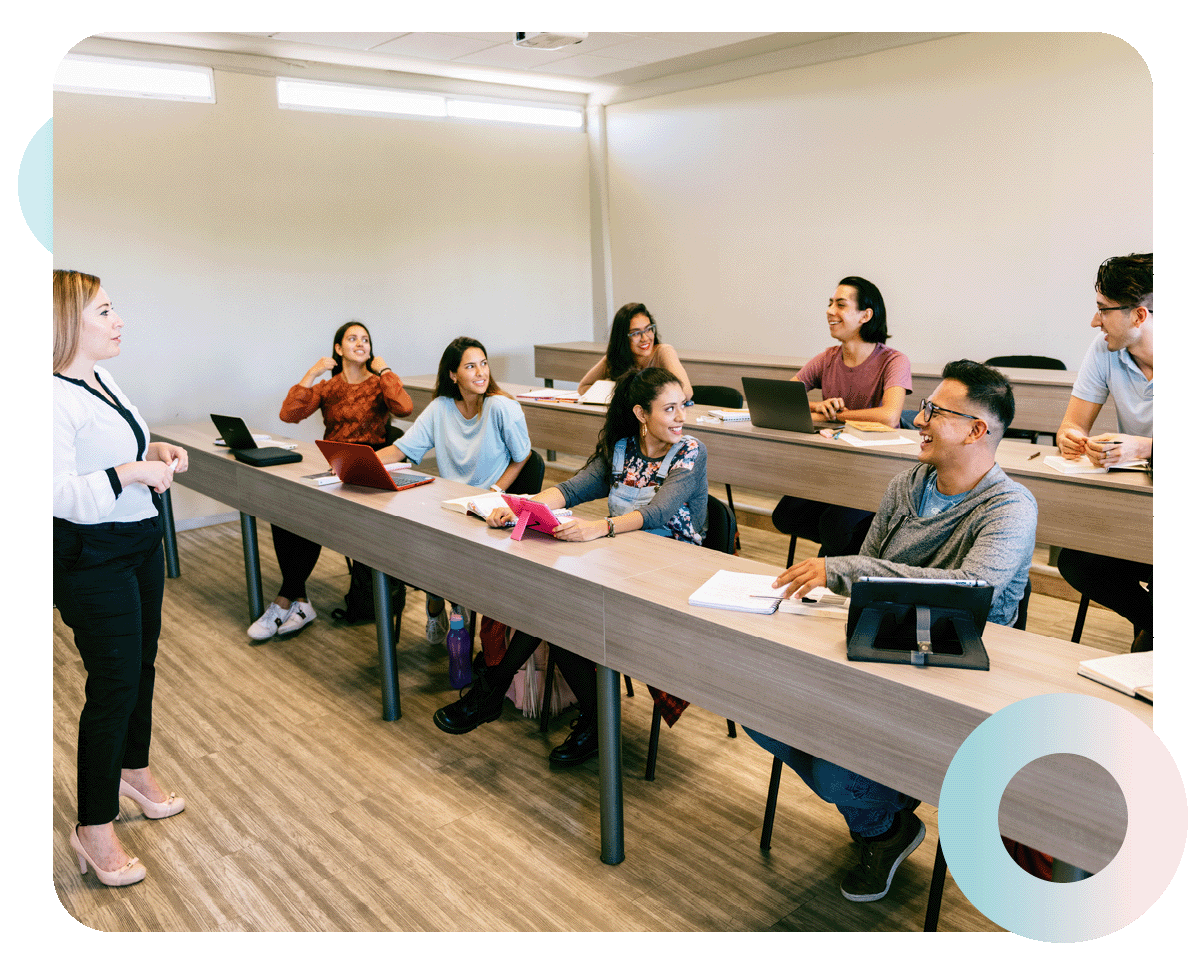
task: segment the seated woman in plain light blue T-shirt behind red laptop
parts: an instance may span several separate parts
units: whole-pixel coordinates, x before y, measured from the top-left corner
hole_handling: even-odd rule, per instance
[[[529,460],[524,412],[492,379],[487,350],[472,337],[452,340],[443,350],[432,402],[379,460],[420,463],[431,449],[442,476],[500,492]],[[442,643],[450,626],[445,601],[426,594],[425,613],[425,640]]]

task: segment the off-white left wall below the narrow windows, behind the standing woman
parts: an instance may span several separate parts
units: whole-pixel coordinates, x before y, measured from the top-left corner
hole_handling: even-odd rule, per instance
[[[466,334],[530,383],[530,344],[590,338],[584,134],[281,110],[274,78],[232,72],[216,91],[54,98],[54,263],[101,277],[126,322],[109,366],[151,425],[284,430],[350,318],[401,376]]]

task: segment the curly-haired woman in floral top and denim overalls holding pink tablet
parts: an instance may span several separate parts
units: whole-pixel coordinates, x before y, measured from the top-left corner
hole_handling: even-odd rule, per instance
[[[608,498],[605,520],[566,517],[554,528],[560,540],[595,540],[648,530],[701,544],[708,527],[708,452],[685,436],[683,384],[666,370],[631,371],[617,382],[595,452],[575,476],[533,499],[552,510]],[[508,508],[493,510],[490,527],[514,520]],[[490,667],[457,702],[442,707],[433,722],[446,733],[469,733],[496,720],[512,677],[541,641],[517,632],[504,659]],[[553,767],[571,767],[596,755],[595,662],[556,648],[556,662],[580,703],[571,736],[550,754]]]

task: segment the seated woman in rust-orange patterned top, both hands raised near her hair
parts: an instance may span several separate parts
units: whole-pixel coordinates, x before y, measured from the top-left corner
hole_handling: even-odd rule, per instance
[[[326,372],[328,380],[317,380]],[[326,440],[366,443],[376,449],[388,443],[391,416],[413,412],[413,400],[403,382],[374,355],[365,324],[350,320],[337,328],[334,355],[320,358],[288,390],[280,420],[299,424],[317,410],[325,420]],[[307,582],[320,557],[320,544],[274,523],[271,540],[283,583],[263,616],[246,630],[259,643],[274,636],[292,636],[317,618],[308,602]]]

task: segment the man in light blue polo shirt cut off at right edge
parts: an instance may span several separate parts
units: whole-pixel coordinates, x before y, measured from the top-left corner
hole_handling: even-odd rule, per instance
[[[1092,326],[1100,332],[1079,366],[1058,427],[1058,450],[1068,460],[1086,456],[1097,467],[1150,460],[1154,452],[1153,253],[1112,257],[1100,264]],[[1121,432],[1090,437],[1110,395]],[[1063,550],[1058,570],[1081,594],[1133,624],[1133,650],[1153,649],[1153,565]]]

